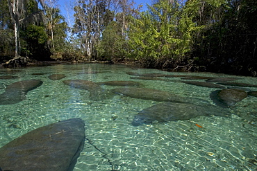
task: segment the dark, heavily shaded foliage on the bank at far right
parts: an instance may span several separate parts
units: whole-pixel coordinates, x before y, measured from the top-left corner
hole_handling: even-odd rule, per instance
[[[194,56],[205,71],[257,75],[257,1],[222,1],[206,4],[206,28],[194,37]],[[199,17],[198,17],[199,18]],[[199,20],[198,20],[199,21]]]

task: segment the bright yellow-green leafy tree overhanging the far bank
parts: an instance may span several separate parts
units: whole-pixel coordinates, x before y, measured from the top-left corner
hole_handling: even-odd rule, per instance
[[[201,28],[177,1],[158,1],[133,19],[128,33],[130,55],[135,60],[154,60],[156,66],[176,65],[186,60],[193,35]]]

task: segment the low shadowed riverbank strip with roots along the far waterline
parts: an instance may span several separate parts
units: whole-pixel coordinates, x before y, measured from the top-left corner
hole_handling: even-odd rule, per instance
[[[49,66],[49,65],[55,65],[55,64],[125,64],[127,66],[132,66],[136,68],[145,68],[145,69],[160,69],[162,71],[169,71],[169,72],[210,72],[210,73],[225,73],[230,75],[243,75],[243,76],[251,76],[256,77],[256,72],[251,73],[233,73],[231,71],[224,71],[217,70],[213,71],[212,69],[208,69],[208,67],[205,66],[197,66],[196,64],[186,64],[186,65],[176,65],[176,66],[170,66],[170,67],[161,67],[161,66],[154,66],[154,65],[146,65],[145,61],[135,61],[135,60],[129,60],[129,59],[113,59],[113,60],[107,60],[106,58],[102,58],[99,60],[90,59],[85,56],[79,56],[79,55],[53,55],[47,60],[31,60],[28,57],[1,57],[1,65],[0,68],[17,68],[17,67],[28,67],[28,66]]]

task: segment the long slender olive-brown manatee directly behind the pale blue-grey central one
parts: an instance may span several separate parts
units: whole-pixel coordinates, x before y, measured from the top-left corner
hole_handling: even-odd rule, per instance
[[[143,100],[154,100],[158,102],[199,102],[201,99],[197,98],[184,98],[178,96],[174,93],[169,93],[167,91],[161,91],[156,89],[146,89],[137,87],[124,87],[111,90],[113,93],[121,94],[131,98],[139,98]],[[206,103],[206,101],[201,100],[200,102]]]

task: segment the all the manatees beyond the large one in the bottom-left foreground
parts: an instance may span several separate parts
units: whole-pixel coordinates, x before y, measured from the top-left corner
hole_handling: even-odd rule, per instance
[[[97,73],[97,72],[95,72]],[[197,98],[188,98],[161,91],[157,89],[144,88],[143,84],[135,81],[107,81],[107,82],[92,82],[89,80],[63,80],[64,84],[69,85],[75,89],[84,89],[89,92],[88,98],[90,100],[103,100],[115,96],[115,94],[128,96],[130,98],[137,98],[142,100],[153,100],[159,103],[147,109],[144,109],[135,116],[132,125],[142,125],[143,123],[152,123],[154,121],[172,121],[172,120],[185,120],[194,118],[196,116],[227,116],[229,110],[219,107],[229,108],[233,107],[236,102],[247,98],[247,96],[256,96],[257,91],[244,91],[238,87],[257,87],[254,84],[246,84],[235,82],[238,78],[213,78],[203,76],[189,76],[189,75],[167,75],[162,73],[135,73],[126,72],[128,75],[133,75],[132,79],[143,80],[163,80],[172,82],[181,82],[185,84],[196,85],[200,87],[215,88],[215,91],[210,93],[210,99],[213,100],[215,105],[211,105],[206,100]],[[63,74],[49,75],[51,80],[61,80],[65,78]],[[163,78],[181,78],[181,80],[165,80]],[[201,80],[201,81],[195,81]],[[205,80],[204,82],[202,80]],[[6,87],[6,92],[0,94],[0,105],[12,105],[26,99],[26,93],[42,85],[40,80],[23,80],[14,82]],[[101,85],[118,86],[115,89],[106,90]],[[235,88],[226,88],[226,86],[233,86]],[[173,104],[174,103],[174,104]],[[163,110],[160,110],[163,107]],[[197,111],[191,110],[195,107]],[[206,114],[208,108],[212,108],[213,114]],[[215,109],[214,109],[215,108]],[[193,114],[197,113],[197,114]],[[187,115],[187,116],[185,116]],[[161,118],[161,119],[159,119]],[[174,119],[176,118],[176,119]],[[135,124],[137,123],[137,124]]]

